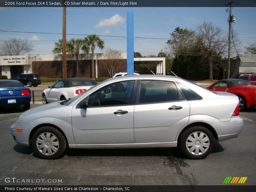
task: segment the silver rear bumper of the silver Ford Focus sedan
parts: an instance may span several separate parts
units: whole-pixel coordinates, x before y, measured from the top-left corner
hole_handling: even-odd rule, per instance
[[[213,124],[218,135],[218,141],[229,140],[238,136],[244,126],[244,119],[240,116],[234,116],[227,122]]]

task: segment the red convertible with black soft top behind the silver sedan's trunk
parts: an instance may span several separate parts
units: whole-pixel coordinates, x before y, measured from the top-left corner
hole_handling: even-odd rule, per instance
[[[244,79],[223,79],[206,87],[211,91],[229,92],[238,96],[240,110],[256,107],[256,85]]]

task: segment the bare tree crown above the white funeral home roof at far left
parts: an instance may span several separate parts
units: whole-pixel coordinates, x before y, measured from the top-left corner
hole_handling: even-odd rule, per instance
[[[0,52],[4,55],[24,55],[33,51],[34,45],[28,39],[8,38],[0,46]]]

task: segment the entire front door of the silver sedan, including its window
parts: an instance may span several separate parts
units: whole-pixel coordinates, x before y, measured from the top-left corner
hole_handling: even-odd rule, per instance
[[[119,81],[106,85],[86,97],[86,109],[73,108],[71,118],[76,144],[135,143],[134,82]],[[116,84],[120,83],[124,89],[116,90]]]

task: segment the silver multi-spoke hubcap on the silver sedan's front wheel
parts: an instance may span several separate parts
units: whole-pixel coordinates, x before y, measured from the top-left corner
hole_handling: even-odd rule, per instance
[[[59,145],[57,137],[50,132],[44,132],[36,139],[36,147],[44,155],[55,154],[59,149]]]

